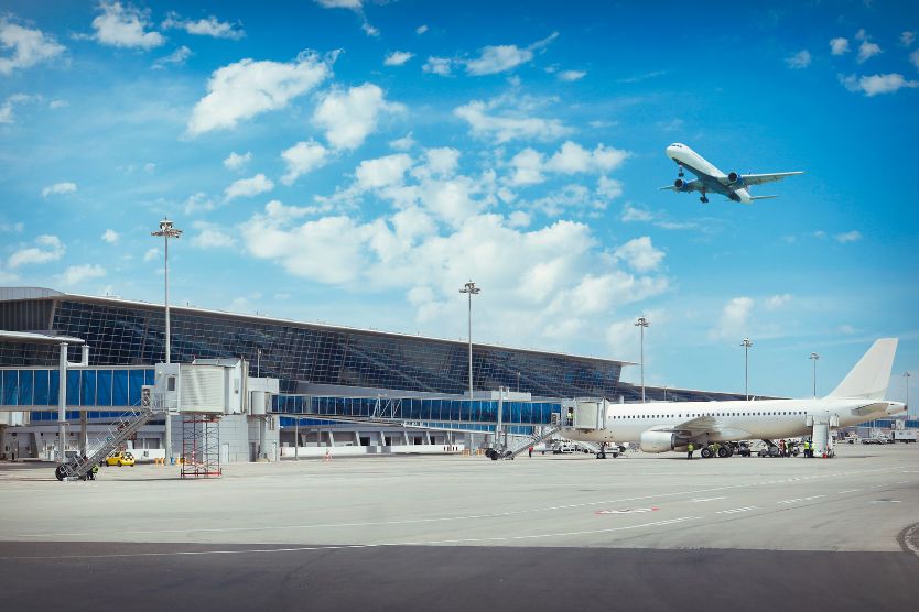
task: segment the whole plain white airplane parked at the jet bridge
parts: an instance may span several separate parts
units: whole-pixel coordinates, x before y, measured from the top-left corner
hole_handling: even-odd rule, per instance
[[[574,427],[562,435],[571,440],[599,444],[605,457],[607,445],[618,446],[617,442],[627,440],[640,440],[645,452],[685,452],[690,442],[696,449],[705,449],[711,442],[804,436],[812,431],[814,420],[848,427],[889,417],[906,409],[900,402],[884,400],[896,350],[896,338],[875,340],[825,397],[646,404],[603,401],[601,409],[606,414],[601,415],[602,426],[596,418],[583,424],[576,418]],[[720,450],[729,452],[724,447]]]

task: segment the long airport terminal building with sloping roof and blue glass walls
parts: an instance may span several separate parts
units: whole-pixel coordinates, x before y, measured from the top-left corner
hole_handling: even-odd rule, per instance
[[[464,341],[186,306],[171,306],[170,317],[173,363],[242,359],[251,376],[279,380],[271,414],[283,446],[342,440],[380,447],[450,445],[462,439],[468,447],[473,438],[450,429],[493,430],[498,404],[493,392],[499,387],[512,393],[502,403],[504,422],[520,433],[548,425],[563,398],[635,402],[641,396],[640,387],[620,380],[623,367],[634,365],[627,361],[474,343],[476,395],[471,398]],[[67,374],[66,405],[67,420],[83,418],[90,429],[93,423],[139,405],[141,387],[152,384],[154,364],[164,360],[164,325],[159,304],[48,288],[0,288],[0,330],[74,337],[88,345],[89,367]],[[56,435],[57,350],[54,343],[0,341],[3,442],[10,447],[17,434],[21,457],[37,456],[39,439]],[[664,387],[647,387],[646,395],[668,401],[740,397]],[[431,431],[409,435],[398,428],[316,418],[323,415],[357,420],[386,416],[430,425]],[[292,427],[298,429],[295,440]],[[138,444],[162,448],[162,423],[150,424]],[[23,445],[23,437],[30,441]]]

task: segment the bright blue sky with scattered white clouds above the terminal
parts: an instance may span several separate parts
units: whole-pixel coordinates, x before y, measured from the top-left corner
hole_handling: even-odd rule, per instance
[[[807,395],[898,336],[901,397],[919,9],[597,4],[8,0],[0,283],[160,302],[167,215],[174,303],[465,338],[472,278],[478,341]]]

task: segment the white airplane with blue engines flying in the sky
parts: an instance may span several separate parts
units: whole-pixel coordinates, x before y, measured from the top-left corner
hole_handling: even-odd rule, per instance
[[[671,189],[680,193],[700,192],[702,197],[699,199],[702,204],[709,203],[706,194],[710,192],[721,194],[742,204],[750,204],[757,199],[775,198],[778,196],[752,196],[747,187],[781,181],[786,176],[792,176],[794,174],[804,174],[801,171],[775,172],[771,174],[739,174],[737,172],[724,174],[710,164],[702,155],[679,142],[674,142],[667,147],[667,156],[677,162],[677,165],[680,166],[680,172],[673,185],[661,187],[661,189]],[[685,181],[683,178],[683,168],[694,174],[695,178],[693,181]]]

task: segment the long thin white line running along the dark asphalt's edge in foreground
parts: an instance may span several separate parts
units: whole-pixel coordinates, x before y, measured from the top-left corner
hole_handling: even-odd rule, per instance
[[[272,554],[272,553],[299,553],[307,550],[343,550],[348,548],[380,548],[385,546],[439,546],[444,544],[473,544],[476,542],[512,542],[522,539],[541,539],[550,537],[567,537],[576,535],[594,535],[606,534],[613,532],[624,532],[629,529],[641,529],[645,527],[661,527],[666,525],[674,525],[684,523],[686,521],[695,521],[702,518],[701,516],[681,516],[679,518],[669,518],[667,521],[653,521],[651,523],[641,523],[639,525],[625,525],[621,527],[608,527],[605,529],[586,529],[580,532],[559,532],[550,534],[530,534],[520,536],[494,536],[494,537],[469,537],[461,539],[435,539],[428,542],[386,542],[379,544],[342,544],[329,546],[299,546],[294,548],[249,548],[244,550],[175,550],[169,553],[111,553],[104,555],[46,555],[46,556],[28,556],[28,557],[0,557],[0,560],[26,560],[26,559],[111,559],[126,557],[183,557],[183,556],[206,556],[206,555],[251,555],[251,554]]]

